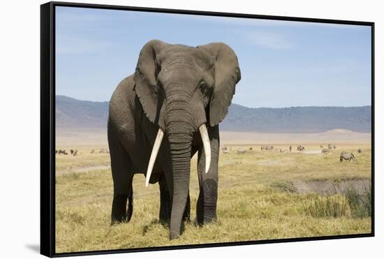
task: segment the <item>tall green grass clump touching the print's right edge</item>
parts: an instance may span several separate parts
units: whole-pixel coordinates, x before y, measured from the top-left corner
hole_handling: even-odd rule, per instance
[[[354,218],[365,218],[372,215],[372,187],[366,187],[359,193],[356,188],[349,188],[344,193],[350,214]]]

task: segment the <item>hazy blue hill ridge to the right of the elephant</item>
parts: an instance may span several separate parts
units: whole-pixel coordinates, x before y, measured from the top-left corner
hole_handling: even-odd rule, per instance
[[[371,131],[371,106],[246,108],[232,104],[221,124],[226,131],[314,133],[345,128]]]

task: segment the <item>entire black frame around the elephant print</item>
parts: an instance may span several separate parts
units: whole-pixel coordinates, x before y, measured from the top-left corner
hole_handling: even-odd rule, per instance
[[[56,253],[55,251],[55,8],[57,6],[76,8],[98,8],[112,10],[133,10],[148,13],[175,13],[189,15],[208,15],[221,17],[243,17],[265,20],[283,20],[297,22],[318,22],[329,24],[353,24],[371,27],[371,188],[372,215],[371,233],[357,235],[337,235],[323,237],[300,237],[288,239],[268,239],[247,242],[228,242],[216,244],[193,244],[181,246],[161,246],[135,249],[117,249],[105,251],[81,251],[74,253]],[[138,251],[159,251],[172,249],[195,249],[214,246],[239,246],[246,244],[269,244],[280,242],[302,242],[323,239],[346,239],[355,237],[374,237],[374,22],[350,20],[327,20],[308,17],[284,17],[272,15],[253,15],[244,13],[216,13],[198,10],[176,10],[162,8],[142,8],[133,6],[109,6],[90,3],[49,2],[40,6],[40,253],[48,257],[84,256],[107,253],[129,253]]]

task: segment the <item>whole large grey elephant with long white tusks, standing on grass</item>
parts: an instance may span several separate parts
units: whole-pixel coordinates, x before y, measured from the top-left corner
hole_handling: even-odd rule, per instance
[[[204,225],[217,219],[219,123],[239,80],[237,56],[224,43],[190,47],[151,40],[142,47],[135,73],[117,85],[110,99],[112,224],[131,220],[133,175],[144,174],[146,186],[159,185],[160,221],[169,224],[170,239],[179,237],[190,219],[196,152],[196,221]]]

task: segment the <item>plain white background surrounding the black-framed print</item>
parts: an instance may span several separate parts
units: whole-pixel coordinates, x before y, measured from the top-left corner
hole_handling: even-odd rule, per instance
[[[110,255],[109,258],[365,258],[384,244],[383,224],[383,50],[384,18],[381,1],[207,1],[134,0],[87,1],[129,6],[210,10],[259,15],[283,15],[376,22],[376,237],[286,244],[189,249]],[[0,237],[1,258],[37,258],[39,244],[39,57],[40,3],[2,1],[0,8]],[[20,151],[27,149],[23,154]],[[379,204],[381,202],[381,204]],[[381,246],[380,246],[381,244]],[[106,256],[98,256],[103,258]]]

